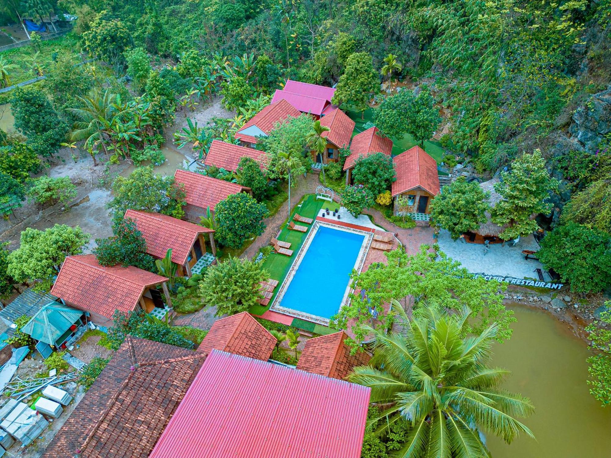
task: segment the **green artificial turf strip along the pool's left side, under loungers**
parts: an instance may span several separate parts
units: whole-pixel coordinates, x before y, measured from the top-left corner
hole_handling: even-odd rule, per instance
[[[330,202],[327,202],[326,200],[316,200],[315,194],[305,195],[301,202],[298,204],[298,206],[293,208],[293,211],[291,213],[291,220],[292,216],[296,213],[306,218],[315,219],[316,216],[320,216],[320,209],[323,207],[326,208],[329,203]],[[331,207],[329,207],[329,209],[331,209]],[[297,221],[295,221],[295,224],[307,226],[308,228],[311,228],[313,225],[313,223],[304,224]],[[290,230],[286,221],[282,225],[282,231],[280,231],[278,240],[282,242],[289,242],[291,244],[290,249],[293,250],[293,255],[285,256],[280,255],[279,253],[270,253],[266,260],[263,261],[263,269],[268,271],[269,277],[273,278],[274,280],[278,280],[279,282],[278,286],[274,290],[274,295],[272,296],[271,300],[269,300],[269,304],[274,302],[274,299],[276,298],[276,293],[279,291],[282,282],[284,282],[284,278],[287,276],[288,270],[293,264],[295,256],[297,256],[297,253],[309,232],[309,230],[307,232]],[[263,307],[263,305],[254,305],[249,309],[249,312],[255,315],[262,315],[263,313],[265,313],[266,310],[269,310],[269,305],[266,307]]]

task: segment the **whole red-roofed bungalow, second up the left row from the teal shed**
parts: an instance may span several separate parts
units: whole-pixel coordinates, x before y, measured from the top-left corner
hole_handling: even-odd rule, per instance
[[[214,246],[214,230],[197,224],[160,213],[128,210],[125,217],[136,222],[137,230],[147,242],[147,253],[153,258],[166,257],[168,249],[172,249],[172,262],[178,264],[177,273],[181,277],[191,277],[192,270],[199,273],[204,266],[211,264],[211,256],[206,256],[206,243],[204,234],[208,234],[212,256],[216,256]],[[201,261],[200,261],[201,260]],[[199,263],[199,264],[198,264]],[[194,267],[196,266],[197,267]]]

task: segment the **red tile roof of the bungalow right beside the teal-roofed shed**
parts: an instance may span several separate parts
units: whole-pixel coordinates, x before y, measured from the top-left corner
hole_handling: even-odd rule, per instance
[[[94,255],[68,256],[51,294],[82,310],[112,318],[115,310],[134,310],[147,286],[166,280],[137,267],[100,266]]]

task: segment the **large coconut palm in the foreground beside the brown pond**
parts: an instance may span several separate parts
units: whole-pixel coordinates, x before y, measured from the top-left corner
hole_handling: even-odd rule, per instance
[[[397,422],[406,427],[398,456],[489,458],[483,431],[511,442],[532,432],[514,417],[530,415],[528,398],[497,387],[508,372],[488,368],[496,324],[480,335],[464,336],[470,310],[450,314],[422,305],[411,321],[393,301],[398,333],[375,335],[373,366],[359,366],[351,382],[371,388],[371,402],[384,409],[368,429],[387,434]],[[400,423],[397,423],[400,424]]]

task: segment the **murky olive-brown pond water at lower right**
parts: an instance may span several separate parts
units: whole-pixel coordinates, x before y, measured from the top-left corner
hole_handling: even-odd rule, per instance
[[[510,369],[507,390],[528,396],[535,413],[522,420],[536,440],[521,436],[511,445],[489,436],[494,458],[611,457],[611,408],[603,409],[585,383],[590,354],[544,311],[514,305],[513,336],[494,349],[494,365]]]

